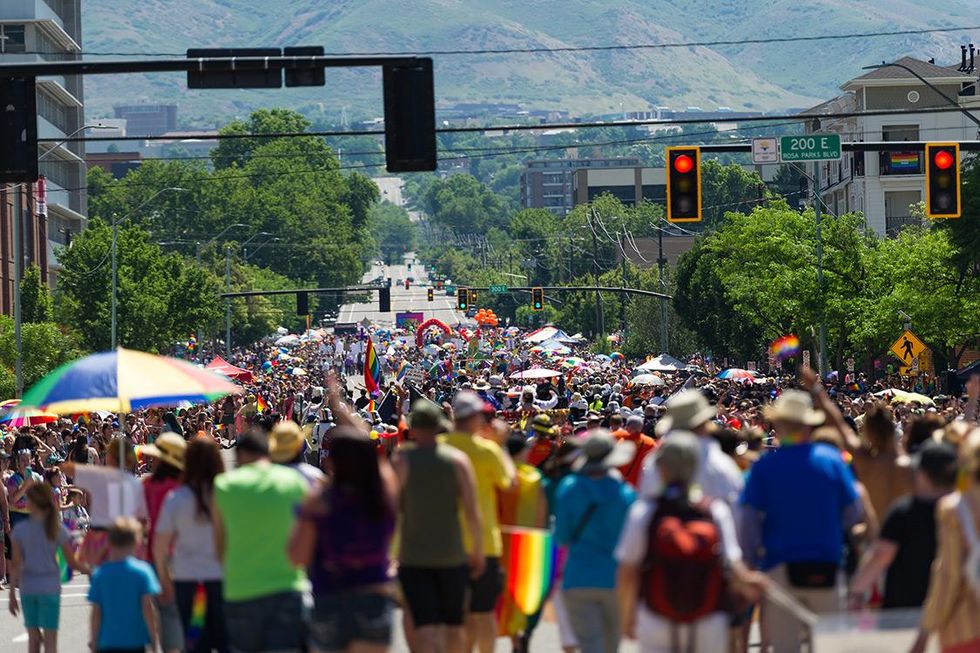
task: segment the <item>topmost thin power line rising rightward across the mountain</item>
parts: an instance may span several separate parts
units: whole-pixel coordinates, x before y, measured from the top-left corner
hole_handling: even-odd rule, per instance
[[[374,52],[326,52],[328,57],[381,57],[381,56],[464,56],[464,55],[495,55],[495,54],[536,54],[560,52],[609,52],[629,50],[660,50],[670,48],[716,47],[731,45],[769,45],[773,43],[806,43],[813,41],[838,41],[848,39],[885,38],[891,36],[917,36],[923,34],[940,34],[948,32],[967,32],[980,29],[980,26],[933,27],[925,29],[892,30],[878,32],[851,32],[846,34],[822,34],[809,36],[776,36],[752,39],[718,39],[712,41],[677,41],[666,43],[634,43],[622,45],[569,45],[561,47],[527,47],[527,48],[480,48],[475,50],[414,50],[414,51],[374,51]],[[64,55],[64,52],[30,51],[25,54]],[[82,56],[124,56],[124,57],[183,57],[186,52],[92,52],[74,53]]]

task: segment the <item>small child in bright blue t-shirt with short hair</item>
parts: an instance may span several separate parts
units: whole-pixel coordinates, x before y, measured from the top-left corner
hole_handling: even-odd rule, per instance
[[[92,573],[89,646],[93,651],[159,649],[153,597],[160,594],[153,567],[133,554],[142,539],[139,522],[116,519],[109,529],[109,560]]]

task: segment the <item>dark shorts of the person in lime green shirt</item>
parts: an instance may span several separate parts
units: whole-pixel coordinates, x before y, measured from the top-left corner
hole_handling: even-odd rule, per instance
[[[302,592],[225,601],[225,626],[232,651],[300,651],[305,648],[309,609]]]

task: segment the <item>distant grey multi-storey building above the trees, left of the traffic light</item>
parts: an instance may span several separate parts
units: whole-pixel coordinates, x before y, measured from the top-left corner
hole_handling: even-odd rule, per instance
[[[632,170],[640,165],[637,158],[613,159],[541,159],[528,161],[521,173],[521,206],[525,209],[548,209],[564,216],[575,206],[573,177],[583,169]]]

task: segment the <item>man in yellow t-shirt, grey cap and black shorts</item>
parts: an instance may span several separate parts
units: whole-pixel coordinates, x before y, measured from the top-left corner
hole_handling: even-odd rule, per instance
[[[514,464],[493,441],[477,433],[485,425],[485,402],[475,392],[463,390],[453,400],[456,430],[443,436],[443,441],[466,454],[476,473],[476,496],[483,523],[483,546],[487,564],[483,574],[470,583],[470,605],[466,618],[467,651],[474,644],[480,653],[492,653],[497,636],[494,608],[503,590],[500,568],[503,543],[497,519],[497,492],[508,490],[514,483]],[[464,531],[463,544],[467,553],[472,547]]]

